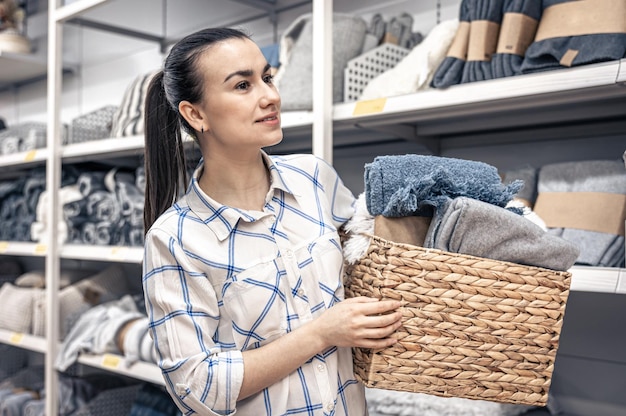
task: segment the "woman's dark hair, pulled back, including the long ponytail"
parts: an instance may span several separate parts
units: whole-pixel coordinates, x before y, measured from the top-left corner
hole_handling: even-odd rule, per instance
[[[203,74],[198,70],[202,53],[216,42],[249,39],[237,29],[212,28],[178,41],[148,86],[145,103],[144,230],[167,210],[185,190],[187,171],[181,129],[195,137],[193,128],[178,112],[181,101],[200,102]]]

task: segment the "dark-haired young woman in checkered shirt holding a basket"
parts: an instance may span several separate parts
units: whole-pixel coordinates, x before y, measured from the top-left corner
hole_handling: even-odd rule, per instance
[[[367,414],[350,348],[392,345],[400,304],[343,300],[337,230],[354,197],[323,160],[262,150],[283,135],[258,46],[233,29],[187,36],[145,116],[143,286],[181,411]],[[202,153],[186,189],[181,129]]]

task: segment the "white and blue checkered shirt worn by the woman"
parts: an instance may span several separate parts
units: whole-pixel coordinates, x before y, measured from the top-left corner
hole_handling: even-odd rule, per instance
[[[343,299],[337,228],[354,213],[354,196],[323,160],[264,157],[272,184],[263,212],[212,200],[198,186],[198,170],[146,236],[143,286],[165,385],[187,415],[363,416],[349,348],[321,352],[236,403],[241,351]]]

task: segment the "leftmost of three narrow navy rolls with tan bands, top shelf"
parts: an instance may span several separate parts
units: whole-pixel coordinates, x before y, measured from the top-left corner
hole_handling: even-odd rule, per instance
[[[467,61],[467,47],[469,45],[469,4],[471,0],[462,0],[459,8],[459,26],[454,40],[448,48],[446,57],[437,67],[431,86],[445,88],[461,83],[463,67]]]

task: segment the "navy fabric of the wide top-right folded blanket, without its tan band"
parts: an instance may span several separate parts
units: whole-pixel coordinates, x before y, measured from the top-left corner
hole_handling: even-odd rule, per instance
[[[542,13],[551,6],[571,1],[577,0],[542,0]],[[568,66],[618,60],[626,57],[626,33],[564,36],[533,42],[526,51],[520,71],[527,74],[564,68],[561,60],[568,51],[577,52]]]

